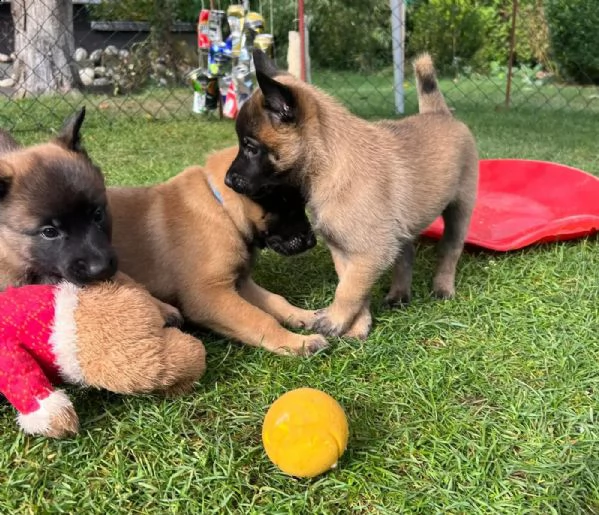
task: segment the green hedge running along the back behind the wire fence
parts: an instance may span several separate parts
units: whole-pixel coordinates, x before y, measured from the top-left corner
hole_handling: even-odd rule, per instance
[[[202,7],[201,0],[105,0],[90,9],[94,19],[158,23],[164,18],[160,13],[156,16],[157,4],[169,5],[165,11],[172,20],[191,22]],[[220,5],[226,9],[229,2]],[[269,30],[272,13],[275,50],[284,65],[287,34],[297,28],[296,0],[252,0],[251,7],[262,7]],[[493,66],[505,66],[511,9],[512,0],[411,0],[407,3],[407,57],[429,51],[445,73],[466,67],[485,73]],[[389,0],[306,0],[306,12],[312,18],[314,67],[367,71],[391,66]],[[598,83],[597,27],[599,0],[520,0],[516,64],[553,70],[553,57],[564,78]]]

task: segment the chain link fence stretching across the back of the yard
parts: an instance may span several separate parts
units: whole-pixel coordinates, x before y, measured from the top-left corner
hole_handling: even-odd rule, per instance
[[[556,1],[521,0],[518,7],[512,0],[489,0],[475,19],[472,9],[454,9],[447,16],[436,12],[442,0],[307,0],[309,78],[358,115],[411,113],[417,109],[411,56],[428,49],[447,101],[458,111],[505,107],[510,83],[511,109],[599,112],[599,73],[594,75],[599,66],[570,61],[564,73],[566,67],[548,57],[545,4]],[[590,9],[599,12],[593,4]],[[0,1],[0,127],[45,130],[81,105],[93,113],[92,123],[100,124],[199,116],[192,112],[188,79],[199,65],[197,17],[202,8],[226,11],[229,5],[218,0]],[[286,67],[289,31],[298,29],[297,0],[261,0],[250,8],[263,15],[265,31],[274,34],[277,62]],[[503,31],[497,36],[500,44],[486,54],[480,50],[482,39],[475,37],[487,30],[485,17]],[[539,41],[531,39],[531,31]],[[403,76],[397,60],[402,56]]]

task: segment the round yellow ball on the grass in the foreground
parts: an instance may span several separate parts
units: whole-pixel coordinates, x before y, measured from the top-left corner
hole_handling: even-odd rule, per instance
[[[266,413],[262,443],[283,472],[314,477],[334,468],[347,447],[343,408],[330,395],[298,388],[279,397]]]

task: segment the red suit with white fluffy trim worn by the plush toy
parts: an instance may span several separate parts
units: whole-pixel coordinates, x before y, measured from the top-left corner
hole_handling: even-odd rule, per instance
[[[76,347],[78,291],[61,283],[0,293],[0,392],[27,433],[39,433],[53,414],[72,406],[53,383],[83,384]]]

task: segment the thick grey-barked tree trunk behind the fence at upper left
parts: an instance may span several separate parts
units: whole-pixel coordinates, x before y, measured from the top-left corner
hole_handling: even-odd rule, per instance
[[[70,0],[12,0],[17,96],[67,92],[81,86],[73,60]]]

